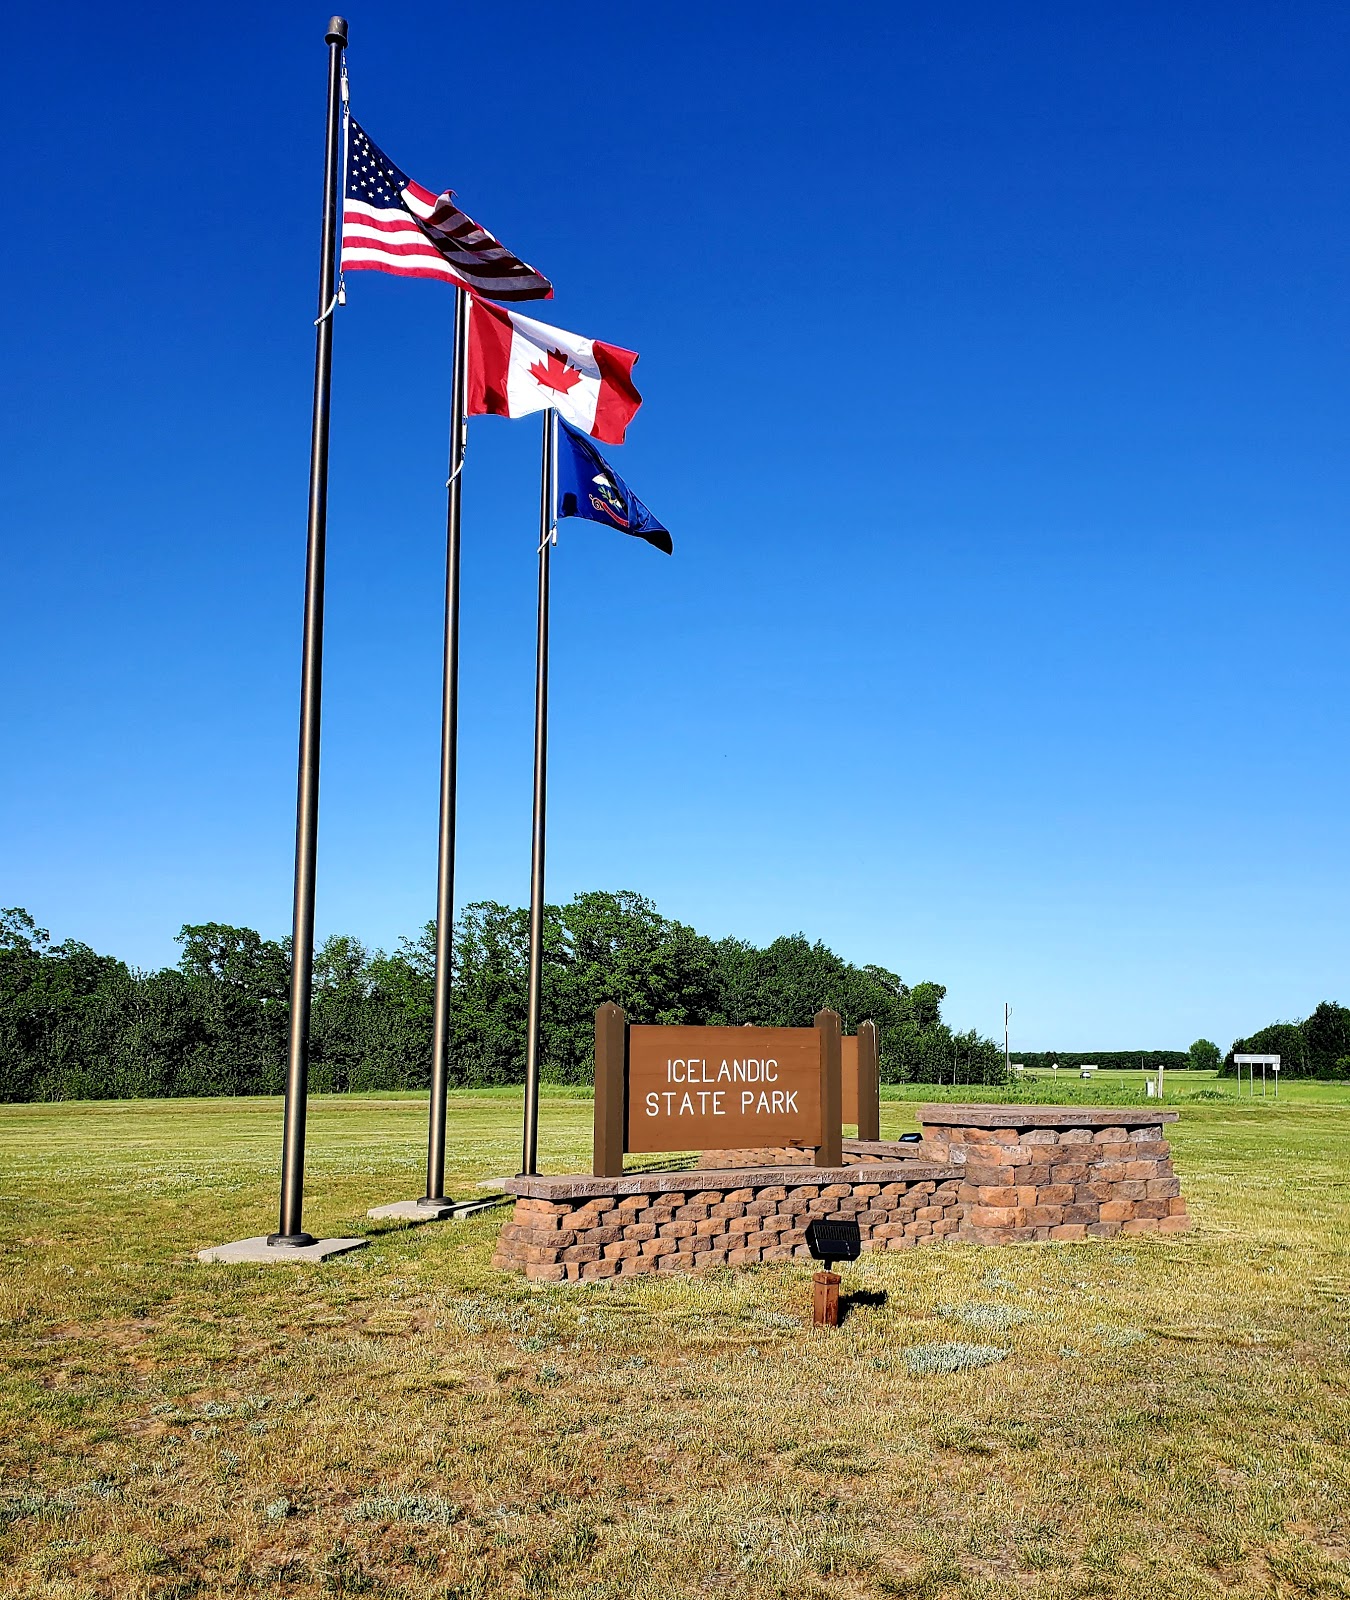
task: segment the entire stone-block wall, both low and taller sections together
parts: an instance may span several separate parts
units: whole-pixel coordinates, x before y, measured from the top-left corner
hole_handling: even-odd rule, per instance
[[[1176,1115],[923,1106],[921,1144],[849,1139],[846,1166],[745,1150],[723,1154],[758,1154],[761,1165],[513,1178],[493,1266],[563,1283],[808,1259],[813,1216],[856,1218],[864,1250],[1180,1234],[1190,1218],[1163,1139]]]

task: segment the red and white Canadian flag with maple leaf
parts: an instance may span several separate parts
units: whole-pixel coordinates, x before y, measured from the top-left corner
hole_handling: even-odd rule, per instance
[[[553,406],[573,427],[622,445],[641,405],[633,362],[633,350],[470,296],[470,416],[526,416]]]

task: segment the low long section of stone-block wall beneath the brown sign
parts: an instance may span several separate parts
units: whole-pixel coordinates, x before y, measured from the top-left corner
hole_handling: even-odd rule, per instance
[[[494,1267],[561,1283],[809,1259],[814,1216],[857,1221],[869,1250],[952,1237],[960,1174],[926,1162],[893,1166],[645,1173],[633,1178],[513,1178],[515,1214]]]

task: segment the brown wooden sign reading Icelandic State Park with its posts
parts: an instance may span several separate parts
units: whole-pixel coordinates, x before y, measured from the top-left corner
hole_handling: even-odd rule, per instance
[[[840,1019],[814,1027],[629,1026],[595,1013],[595,1173],[617,1176],[624,1152],[811,1146],[843,1162]]]

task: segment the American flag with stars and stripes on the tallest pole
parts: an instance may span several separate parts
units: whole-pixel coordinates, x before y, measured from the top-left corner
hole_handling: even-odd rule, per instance
[[[552,299],[553,285],[454,203],[400,173],[355,117],[347,122],[342,270],[441,278],[497,301]]]

